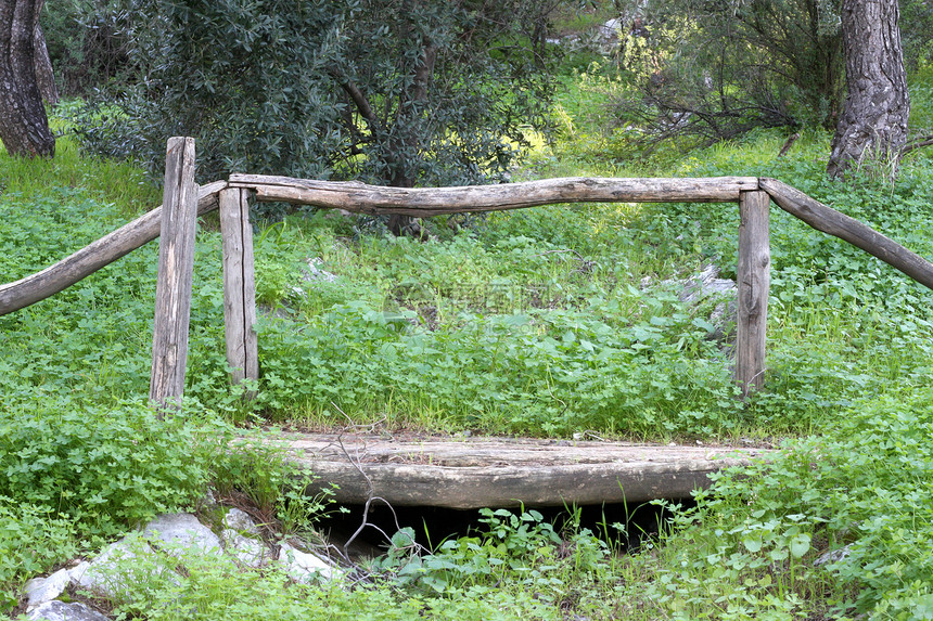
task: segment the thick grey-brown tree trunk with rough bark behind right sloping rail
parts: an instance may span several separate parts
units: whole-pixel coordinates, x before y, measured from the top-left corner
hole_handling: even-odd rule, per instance
[[[832,140],[830,177],[865,165],[889,178],[897,171],[910,112],[898,15],[896,0],[843,0],[848,95]]]

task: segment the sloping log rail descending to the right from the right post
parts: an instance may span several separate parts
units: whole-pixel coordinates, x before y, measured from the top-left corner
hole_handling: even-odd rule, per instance
[[[762,179],[761,185],[762,190],[770,194],[775,203],[788,214],[800,218],[817,231],[834,235],[861,248],[933,289],[933,263],[920,255],[908,250],[855,218],[849,218],[777,179]]]

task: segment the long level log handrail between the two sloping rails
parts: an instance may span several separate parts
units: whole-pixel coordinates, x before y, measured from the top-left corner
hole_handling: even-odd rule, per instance
[[[383,187],[357,182],[310,181],[231,174],[231,187],[256,192],[257,200],[281,200],[357,214],[440,216],[499,211],[555,203],[728,203],[757,190],[755,177],[704,179],[602,179],[571,177],[499,185]]]

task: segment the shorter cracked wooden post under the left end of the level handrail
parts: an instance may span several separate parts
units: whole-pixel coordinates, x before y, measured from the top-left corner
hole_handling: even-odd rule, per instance
[[[248,191],[220,192],[220,234],[223,245],[223,327],[227,364],[233,384],[259,377],[256,331],[256,284]],[[252,397],[252,394],[251,394]]]

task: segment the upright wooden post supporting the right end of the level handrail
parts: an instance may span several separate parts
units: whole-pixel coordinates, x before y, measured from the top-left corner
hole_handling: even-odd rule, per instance
[[[746,399],[765,383],[765,335],[768,323],[768,289],[771,248],[768,233],[767,192],[742,192],[739,196],[739,309],[736,342],[736,381]]]

